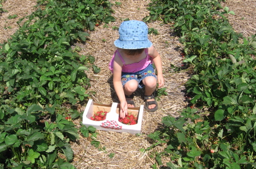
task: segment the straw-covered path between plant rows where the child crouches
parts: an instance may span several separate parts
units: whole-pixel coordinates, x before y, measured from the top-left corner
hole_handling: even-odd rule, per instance
[[[113,3],[116,1],[112,1]],[[112,74],[108,70],[108,63],[116,47],[113,41],[118,39],[119,34],[112,27],[119,27],[124,19],[142,20],[148,15],[147,5],[150,1],[134,1],[124,0],[120,6],[114,6],[113,10],[116,22],[110,23],[108,28],[103,25],[96,27],[94,32],[90,33],[90,41],[85,45],[76,44],[79,47],[80,54],[95,56],[95,64],[101,68],[99,74],[88,72],[91,78],[91,89],[96,91],[91,98],[97,103],[111,104],[117,102],[115,92],[112,86]],[[129,9],[129,10],[128,10]],[[105,151],[99,151],[90,145],[90,139],[82,138],[74,143],[72,148],[75,151],[74,165],[78,168],[150,168],[155,163],[148,152],[141,153],[140,149],[147,149],[151,145],[147,138],[147,134],[154,132],[161,122],[161,118],[166,115],[177,116],[178,110],[186,106],[184,102],[184,86],[182,86],[188,75],[185,72],[173,73],[170,70],[170,64],[181,65],[182,57],[177,49],[181,48],[181,44],[174,36],[170,36],[168,25],[161,25],[160,22],[148,24],[149,28],[155,28],[159,35],[149,35],[149,39],[155,45],[162,57],[162,66],[164,70],[167,96],[161,96],[159,100],[159,110],[154,113],[144,111],[142,134],[139,137],[127,133],[98,131],[97,140],[101,142],[101,146],[105,147]],[[136,105],[143,105],[141,99],[143,91],[137,91],[135,95]],[[81,112],[83,109],[81,109]],[[109,158],[109,154],[115,154],[113,158]]]

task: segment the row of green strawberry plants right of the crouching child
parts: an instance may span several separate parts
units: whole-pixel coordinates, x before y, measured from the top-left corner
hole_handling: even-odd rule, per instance
[[[193,71],[185,85],[190,107],[148,135],[152,167],[169,158],[170,168],[255,168],[256,35],[235,32],[226,18],[234,12],[217,0],[152,0],[149,10],[145,22],[174,23]]]

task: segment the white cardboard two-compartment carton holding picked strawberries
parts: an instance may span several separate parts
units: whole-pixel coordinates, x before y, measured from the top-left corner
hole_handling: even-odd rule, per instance
[[[88,100],[86,109],[84,109],[83,125],[86,127],[94,126],[97,130],[105,130],[109,132],[124,132],[130,134],[140,133],[144,106],[140,105],[140,107],[128,108],[128,113],[132,113],[132,115],[137,117],[137,124],[135,125],[127,125],[118,121],[119,108],[120,105],[115,102],[112,104],[98,104],[90,99]],[[91,120],[90,117],[97,111],[107,111],[106,119],[103,121]]]

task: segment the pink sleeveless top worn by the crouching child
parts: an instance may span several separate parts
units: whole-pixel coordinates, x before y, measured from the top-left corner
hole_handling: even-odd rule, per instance
[[[116,54],[118,54],[120,60],[123,62],[122,72],[135,73],[137,71],[143,70],[149,64],[152,64],[151,57],[148,55],[148,49],[145,49],[145,53],[146,53],[147,56],[143,60],[141,60],[137,63],[125,65],[125,61],[124,61],[123,57],[121,57],[121,54],[119,53],[119,51],[116,50],[115,54],[113,54],[113,57],[112,57],[111,61],[109,62],[109,70],[111,70],[112,73],[113,73],[113,62],[114,62]]]

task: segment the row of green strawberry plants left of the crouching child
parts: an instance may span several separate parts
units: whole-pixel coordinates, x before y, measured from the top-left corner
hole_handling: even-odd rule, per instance
[[[78,129],[73,120],[80,117],[76,105],[90,95],[85,71],[100,69],[72,45],[85,42],[95,25],[114,21],[111,6],[106,0],[38,1],[0,44],[1,168],[74,168],[70,141],[79,132],[99,146],[95,128]]]

